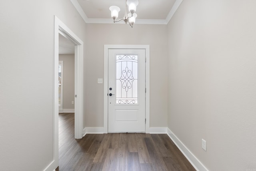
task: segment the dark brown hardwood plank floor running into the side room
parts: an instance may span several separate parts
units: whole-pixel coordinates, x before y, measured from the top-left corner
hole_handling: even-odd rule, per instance
[[[56,171],[194,171],[166,134],[87,134],[74,139],[74,113],[59,114]]]

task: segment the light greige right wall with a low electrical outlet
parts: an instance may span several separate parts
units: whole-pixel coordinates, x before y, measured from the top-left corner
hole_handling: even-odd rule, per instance
[[[168,128],[212,171],[256,170],[255,8],[184,0],[168,24]]]

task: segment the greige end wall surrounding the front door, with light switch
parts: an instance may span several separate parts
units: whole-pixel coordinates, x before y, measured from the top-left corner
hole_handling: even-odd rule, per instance
[[[85,127],[103,127],[105,44],[150,45],[150,127],[167,126],[167,26],[86,24]]]

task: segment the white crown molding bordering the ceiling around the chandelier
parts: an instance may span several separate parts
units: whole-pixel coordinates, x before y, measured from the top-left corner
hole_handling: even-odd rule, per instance
[[[72,2],[72,4],[74,5],[74,7],[76,8],[76,10],[78,11],[78,13],[80,14],[80,16],[83,18],[85,23],[96,23],[96,24],[112,24],[113,23],[113,19],[109,18],[88,18],[86,16],[86,14],[84,13],[84,10],[82,9],[82,7],[80,6],[80,4],[78,3],[77,0],[70,0]],[[168,16],[166,17],[165,20],[144,20],[144,19],[137,19],[136,20],[136,24],[168,24],[168,22],[172,19],[172,16],[174,15],[174,13],[176,12],[176,10],[178,9],[178,7],[180,6],[180,4],[182,3],[183,0],[176,0],[174,2],[174,5],[172,7],[172,9],[170,10]],[[117,22],[118,24],[125,24],[124,22]]]

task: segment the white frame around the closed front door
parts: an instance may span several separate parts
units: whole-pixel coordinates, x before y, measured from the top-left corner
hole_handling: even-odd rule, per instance
[[[104,133],[108,133],[108,50],[144,49],[146,52],[146,133],[150,128],[150,46],[149,45],[104,45]]]

